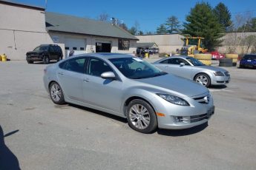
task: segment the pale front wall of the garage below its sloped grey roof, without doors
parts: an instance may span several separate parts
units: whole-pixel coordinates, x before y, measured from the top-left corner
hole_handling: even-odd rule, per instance
[[[106,37],[99,37],[93,35],[76,35],[76,34],[69,34],[69,33],[50,33],[50,37],[56,43],[65,44],[67,39],[85,39],[85,52],[96,52],[96,42],[102,43],[111,43],[111,52],[119,52],[119,53],[133,53],[136,51],[136,41],[130,40],[130,48],[129,50],[118,50],[118,38],[106,38]],[[75,52],[76,53],[76,52]],[[67,56],[67,50],[65,56]]]

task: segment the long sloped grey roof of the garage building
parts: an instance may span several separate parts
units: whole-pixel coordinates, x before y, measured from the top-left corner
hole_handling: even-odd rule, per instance
[[[49,12],[45,13],[45,21],[49,31],[138,40],[122,28],[103,21]]]

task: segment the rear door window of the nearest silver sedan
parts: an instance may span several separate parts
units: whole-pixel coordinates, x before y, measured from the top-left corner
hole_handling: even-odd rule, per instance
[[[67,61],[65,69],[73,72],[85,72],[85,58],[73,58]]]

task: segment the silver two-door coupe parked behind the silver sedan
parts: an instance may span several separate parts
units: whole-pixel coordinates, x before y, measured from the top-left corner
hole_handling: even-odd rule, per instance
[[[188,78],[203,86],[228,84],[229,72],[220,67],[206,66],[196,58],[188,56],[174,56],[154,62],[154,65],[164,72]]]

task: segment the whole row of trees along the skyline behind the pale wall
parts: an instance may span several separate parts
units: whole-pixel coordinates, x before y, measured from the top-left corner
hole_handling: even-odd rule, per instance
[[[186,21],[181,24],[176,16],[170,16],[166,19],[165,23],[160,24],[157,27],[155,33],[157,34],[172,34],[180,33],[185,36],[200,36],[205,38],[203,45],[209,50],[219,47],[222,43],[221,37],[226,33],[245,33],[256,31],[256,17],[252,17],[252,13],[237,13],[232,21],[232,14],[229,8],[220,2],[215,7],[211,7],[208,2],[197,2],[194,7],[191,8]],[[100,21],[107,21],[108,14],[99,16]],[[114,19],[114,20],[113,20]],[[134,26],[130,29],[123,21],[113,18],[112,23],[117,24],[124,30],[127,30],[133,35],[143,35],[140,30],[140,24],[135,21]],[[151,32],[145,33],[150,35]],[[254,40],[255,41],[252,41]],[[242,40],[240,40],[242,41]],[[244,43],[256,44],[256,37],[251,35],[249,38],[244,38]],[[255,49],[256,50],[256,49]]]

